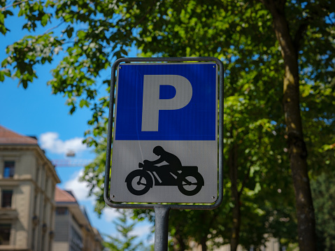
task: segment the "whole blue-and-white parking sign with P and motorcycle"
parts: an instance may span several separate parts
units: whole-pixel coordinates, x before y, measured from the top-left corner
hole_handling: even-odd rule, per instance
[[[217,78],[214,63],[118,66],[113,201],[216,201]]]

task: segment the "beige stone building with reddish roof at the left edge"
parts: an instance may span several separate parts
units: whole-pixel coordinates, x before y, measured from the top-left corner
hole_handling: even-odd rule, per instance
[[[59,182],[36,138],[0,125],[0,250],[52,250]]]

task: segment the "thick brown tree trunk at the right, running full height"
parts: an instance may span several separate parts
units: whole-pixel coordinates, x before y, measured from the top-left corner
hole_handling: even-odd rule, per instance
[[[289,24],[285,17],[285,0],[264,0],[263,3],[273,16],[273,26],[285,65],[283,106],[296,198],[299,249],[316,250],[315,215],[299,106],[299,41],[297,39],[294,41],[290,35]],[[297,32],[300,34],[296,34],[295,38],[301,39],[301,29]]]

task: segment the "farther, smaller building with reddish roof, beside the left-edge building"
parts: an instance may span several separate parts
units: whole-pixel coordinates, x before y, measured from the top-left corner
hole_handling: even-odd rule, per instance
[[[55,240],[53,251],[101,251],[102,238],[91,226],[85,208],[71,191],[56,187]]]

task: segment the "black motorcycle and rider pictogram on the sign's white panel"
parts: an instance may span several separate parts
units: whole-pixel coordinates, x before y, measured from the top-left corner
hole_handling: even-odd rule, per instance
[[[155,147],[153,152],[160,156],[159,159],[138,163],[141,169],[127,175],[125,182],[131,194],[145,194],[153,187],[154,181],[155,186],[178,186],[179,191],[187,196],[197,194],[204,186],[204,178],[197,166],[182,166],[176,155],[166,152],[161,146]],[[168,165],[155,166],[162,162]]]

